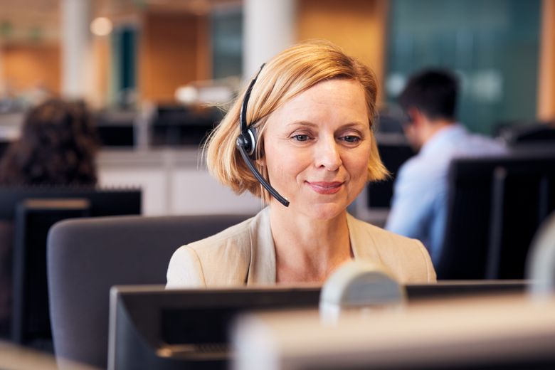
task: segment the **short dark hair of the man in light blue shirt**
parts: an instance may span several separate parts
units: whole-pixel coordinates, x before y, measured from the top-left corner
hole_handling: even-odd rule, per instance
[[[416,108],[430,120],[455,120],[458,80],[447,70],[430,69],[413,75],[398,97],[405,112]]]

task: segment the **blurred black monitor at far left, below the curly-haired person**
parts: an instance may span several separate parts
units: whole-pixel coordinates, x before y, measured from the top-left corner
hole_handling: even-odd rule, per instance
[[[65,218],[141,213],[139,189],[93,187],[0,187],[0,222],[13,230],[11,329],[14,342],[52,350],[48,309],[46,240],[54,223]],[[9,285],[8,285],[9,287]]]

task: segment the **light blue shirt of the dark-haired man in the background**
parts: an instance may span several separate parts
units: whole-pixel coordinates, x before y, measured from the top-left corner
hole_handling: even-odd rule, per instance
[[[385,228],[421,240],[437,264],[445,231],[451,159],[505,152],[502,144],[470,134],[460,124],[441,129],[399,169]]]

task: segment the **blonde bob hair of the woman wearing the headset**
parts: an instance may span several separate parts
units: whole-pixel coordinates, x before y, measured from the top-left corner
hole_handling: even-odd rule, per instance
[[[293,97],[324,80],[342,78],[356,80],[364,88],[371,132],[376,115],[376,76],[372,71],[351,58],[337,46],[326,41],[309,41],[285,49],[268,61],[260,71],[250,93],[246,119],[250,127],[255,127],[256,158],[264,155],[264,132],[268,117]],[[208,171],[223,185],[231,187],[237,194],[250,191],[270,201],[270,194],[256,180],[243,162],[236,139],[240,134],[239,111],[246,86],[233,102],[218,127],[208,137],[205,144]],[[341,92],[338,91],[338,94]],[[255,166],[268,179],[268,171],[255,161]],[[376,139],[371,136],[371,152],[368,159],[368,180],[385,179],[388,171],[379,157]],[[268,181],[270,182],[270,181]]]

